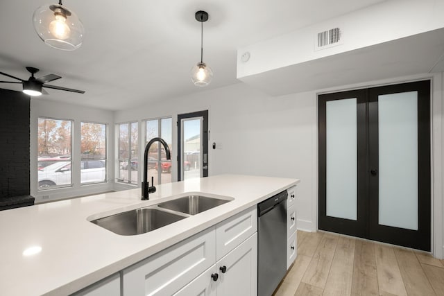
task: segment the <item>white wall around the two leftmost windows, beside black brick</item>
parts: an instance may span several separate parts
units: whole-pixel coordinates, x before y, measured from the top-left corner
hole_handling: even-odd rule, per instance
[[[74,186],[64,189],[49,189],[37,191],[37,125],[38,118],[70,119],[74,121],[72,126],[72,153],[74,166],[72,174]],[[80,186],[80,122],[106,123],[108,124],[108,159],[114,159],[114,112],[81,107],[65,103],[45,101],[42,98],[31,98],[31,195],[35,202],[46,202],[70,198],[80,195],[101,193],[113,189],[114,166],[108,162],[108,182],[102,184],[89,184]]]

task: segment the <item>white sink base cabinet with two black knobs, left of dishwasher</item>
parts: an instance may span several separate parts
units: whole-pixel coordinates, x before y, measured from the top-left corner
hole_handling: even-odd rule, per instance
[[[257,295],[257,207],[126,268],[122,285],[123,296]]]

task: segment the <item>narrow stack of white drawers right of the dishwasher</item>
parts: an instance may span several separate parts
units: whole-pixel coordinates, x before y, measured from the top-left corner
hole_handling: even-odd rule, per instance
[[[298,256],[298,237],[296,233],[296,186],[287,190],[287,269]]]

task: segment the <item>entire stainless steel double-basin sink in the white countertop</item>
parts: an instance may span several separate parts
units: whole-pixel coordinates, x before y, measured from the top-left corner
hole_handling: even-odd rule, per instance
[[[203,195],[187,195],[152,206],[98,218],[91,222],[115,234],[132,236],[151,232],[226,202],[230,200]]]

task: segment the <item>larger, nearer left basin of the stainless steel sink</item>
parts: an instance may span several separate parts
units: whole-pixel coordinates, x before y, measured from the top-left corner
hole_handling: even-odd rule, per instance
[[[108,229],[115,234],[132,236],[144,234],[154,229],[175,223],[186,218],[159,209],[140,208],[92,220],[91,222]]]

